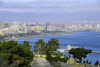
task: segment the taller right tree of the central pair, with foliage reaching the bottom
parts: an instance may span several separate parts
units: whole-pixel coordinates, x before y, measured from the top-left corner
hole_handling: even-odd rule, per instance
[[[46,44],[46,59],[53,67],[60,67],[60,62],[66,63],[68,60],[68,57],[66,56],[61,58],[63,54],[57,51],[58,48],[59,42],[57,39],[52,38]]]

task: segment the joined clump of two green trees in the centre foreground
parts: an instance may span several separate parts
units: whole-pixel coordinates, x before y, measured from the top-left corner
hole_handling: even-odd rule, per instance
[[[63,56],[62,53],[58,52],[57,49],[59,48],[59,42],[57,39],[50,39],[48,43],[45,43],[42,39],[35,42],[35,52],[36,54],[45,54],[46,60],[53,66],[53,67],[60,67],[60,62],[66,63],[68,61],[68,57]]]

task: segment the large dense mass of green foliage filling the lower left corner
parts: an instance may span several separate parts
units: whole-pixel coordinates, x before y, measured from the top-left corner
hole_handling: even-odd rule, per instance
[[[18,44],[17,41],[0,42],[0,67],[30,67],[33,53],[29,42]]]

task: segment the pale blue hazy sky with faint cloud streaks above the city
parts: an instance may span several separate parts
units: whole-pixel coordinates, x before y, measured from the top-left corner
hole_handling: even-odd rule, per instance
[[[100,21],[100,0],[0,0],[3,20],[95,23]]]

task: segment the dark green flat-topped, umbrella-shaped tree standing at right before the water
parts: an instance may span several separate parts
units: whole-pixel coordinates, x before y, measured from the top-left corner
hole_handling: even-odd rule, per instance
[[[69,50],[69,54],[73,55],[74,63],[76,63],[76,60],[78,59],[81,63],[82,58],[86,58],[88,54],[90,54],[92,51],[84,48],[72,48]]]

